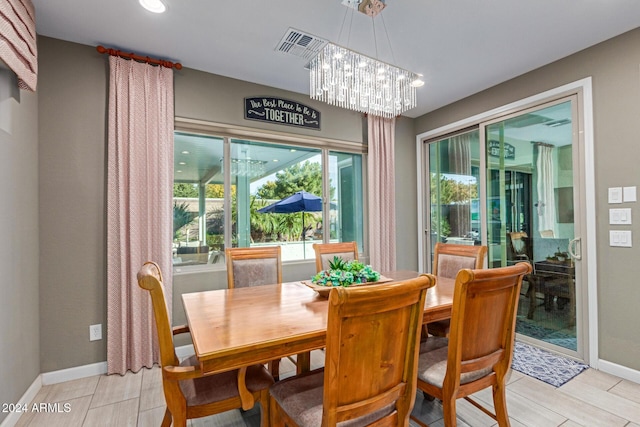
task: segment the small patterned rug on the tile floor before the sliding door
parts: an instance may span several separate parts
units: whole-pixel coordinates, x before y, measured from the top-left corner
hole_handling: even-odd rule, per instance
[[[516,341],[511,367],[555,387],[560,387],[588,368],[584,363],[519,341]]]

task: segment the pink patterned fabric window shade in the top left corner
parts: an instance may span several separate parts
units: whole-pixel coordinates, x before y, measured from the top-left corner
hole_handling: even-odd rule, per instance
[[[38,83],[35,9],[31,0],[0,1],[0,60],[18,77],[21,89]]]

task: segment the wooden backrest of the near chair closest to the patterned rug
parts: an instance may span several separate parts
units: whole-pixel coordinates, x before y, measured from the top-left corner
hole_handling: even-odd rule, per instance
[[[491,381],[511,367],[522,279],[531,264],[464,269],[456,277],[443,387]],[[461,382],[461,375],[466,374]],[[487,385],[491,384],[488,382]]]

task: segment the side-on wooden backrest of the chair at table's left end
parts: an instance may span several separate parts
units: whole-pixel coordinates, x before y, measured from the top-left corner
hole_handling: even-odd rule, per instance
[[[169,311],[164,296],[162,272],[155,262],[147,261],[138,271],[138,286],[149,291],[153,305],[153,317],[156,322],[158,344],[160,347],[160,363],[162,366],[180,364],[173,346],[173,332],[169,323]]]

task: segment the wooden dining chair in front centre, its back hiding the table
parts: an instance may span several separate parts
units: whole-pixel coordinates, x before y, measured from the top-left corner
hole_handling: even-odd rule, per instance
[[[271,425],[409,425],[420,325],[432,275],[336,287],[329,294],[325,367],[270,388]]]

